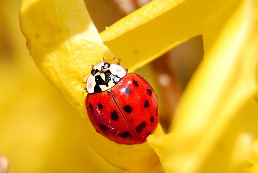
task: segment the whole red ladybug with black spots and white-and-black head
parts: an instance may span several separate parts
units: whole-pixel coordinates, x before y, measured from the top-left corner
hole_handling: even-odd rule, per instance
[[[150,84],[105,59],[92,65],[85,91],[87,114],[96,131],[117,144],[141,144],[159,122],[159,104]]]

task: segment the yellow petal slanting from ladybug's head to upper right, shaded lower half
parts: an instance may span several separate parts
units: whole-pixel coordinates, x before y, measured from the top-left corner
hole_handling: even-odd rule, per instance
[[[101,32],[104,44],[129,70],[202,34],[204,21],[225,1],[156,0]]]

